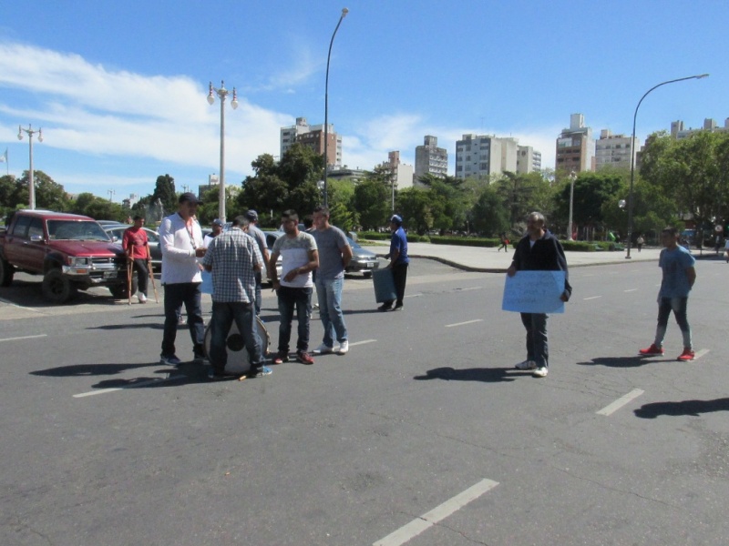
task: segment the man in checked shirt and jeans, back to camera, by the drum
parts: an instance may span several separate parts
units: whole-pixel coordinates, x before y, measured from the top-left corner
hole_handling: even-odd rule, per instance
[[[263,366],[262,341],[255,327],[256,271],[263,267],[258,245],[244,233],[248,218],[236,217],[231,229],[213,238],[202,260],[212,273],[212,319],[210,319],[210,379],[226,377],[226,343],[235,322],[251,361],[249,377],[269,375]]]

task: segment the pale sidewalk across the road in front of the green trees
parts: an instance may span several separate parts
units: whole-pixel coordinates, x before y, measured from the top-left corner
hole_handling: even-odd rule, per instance
[[[366,246],[367,250],[375,252],[376,255],[384,257],[387,253],[387,246]],[[411,258],[430,258],[466,271],[479,271],[482,273],[504,273],[511,265],[511,257],[514,249],[509,248],[508,252],[498,252],[496,247],[460,247],[457,245],[432,245],[430,243],[408,243],[408,254]],[[637,261],[653,261],[658,264],[658,255],[661,248],[631,248],[631,259],[625,258],[627,252],[602,251],[602,252],[565,252],[567,265],[570,268],[581,268],[587,266],[598,266],[606,264],[631,264]],[[704,252],[704,258],[709,253]],[[711,253],[714,254],[713,252]],[[701,258],[697,252],[693,252],[694,258]]]

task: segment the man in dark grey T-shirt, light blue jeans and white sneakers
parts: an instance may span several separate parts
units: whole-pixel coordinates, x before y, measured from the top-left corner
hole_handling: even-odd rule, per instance
[[[324,336],[322,344],[314,349],[314,354],[334,352],[334,336],[339,341],[337,353],[346,354],[349,350],[347,327],[342,311],[342,289],[344,288],[344,269],[352,259],[344,231],[329,224],[329,208],[313,209],[312,232],[319,252],[319,268],[316,270],[316,295],[319,298],[319,316],[322,319]]]

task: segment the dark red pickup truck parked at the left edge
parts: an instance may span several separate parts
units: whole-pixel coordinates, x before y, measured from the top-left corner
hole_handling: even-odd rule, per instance
[[[13,282],[15,271],[43,275],[43,296],[54,303],[96,286],[108,287],[115,298],[128,298],[124,251],[90,217],[15,211],[0,231],[0,287]],[[136,284],[133,279],[132,294]]]

